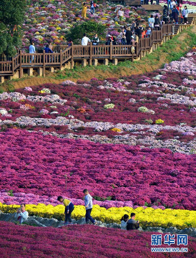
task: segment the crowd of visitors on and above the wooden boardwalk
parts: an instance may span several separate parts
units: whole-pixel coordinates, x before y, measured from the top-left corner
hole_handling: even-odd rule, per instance
[[[96,11],[96,2],[97,2],[97,0],[90,1],[90,13],[92,15]],[[151,0],[151,4],[152,4],[152,2],[153,1]],[[144,0],[144,3],[148,4],[148,1]],[[156,3],[159,4],[159,0],[156,0]],[[134,45],[135,43],[137,43],[139,41],[139,38],[150,37],[151,31],[159,30],[162,24],[172,23],[173,24],[173,34],[174,34],[174,26],[175,26],[175,24],[178,24],[179,12],[181,13],[181,24],[183,24],[183,23],[185,25],[188,24],[187,17],[188,17],[189,11],[188,11],[186,5],[182,11],[182,9],[181,9],[182,3],[183,3],[182,0],[177,0],[177,1],[168,0],[167,5],[164,5],[163,19],[160,21],[158,15],[156,15],[155,18],[153,15],[151,15],[151,17],[149,17],[149,19],[148,19],[149,26],[146,28],[143,28],[142,26],[140,26],[138,19],[132,20],[131,25],[128,27],[123,26],[123,22],[126,20],[126,18],[124,16],[123,8],[121,7],[119,10],[117,10],[117,17],[119,19],[119,23],[122,26],[122,30],[119,34],[121,44],[122,45]],[[142,0],[141,0],[141,4],[143,4]],[[169,12],[169,6],[170,6],[170,9],[172,10],[171,13]],[[84,19],[86,19],[86,13],[87,13],[87,4],[86,4],[86,2],[83,2],[81,15]],[[183,19],[184,19],[184,22],[183,22]],[[86,33],[84,33],[83,38],[82,38],[82,43],[81,43],[82,46],[87,46],[90,44],[90,42],[92,42],[93,45],[99,45],[100,40],[98,38],[97,33],[94,35],[92,40],[90,40],[86,36]],[[69,38],[68,39],[68,47],[71,46],[72,44],[73,44],[72,38]],[[105,44],[106,45],[110,45],[110,44],[117,45],[116,36],[108,34],[106,36]],[[43,50],[45,50],[45,53],[53,53],[52,44],[51,43],[47,44]],[[31,54],[36,53],[33,42],[31,42],[31,45],[29,46],[29,53],[31,53]],[[31,59],[31,57],[30,57],[30,59]],[[34,56],[32,56],[32,59],[34,60]],[[30,60],[30,62],[31,62],[31,60]]]

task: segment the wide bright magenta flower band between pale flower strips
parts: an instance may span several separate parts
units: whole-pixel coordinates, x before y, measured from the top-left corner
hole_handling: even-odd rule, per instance
[[[82,199],[88,188],[92,196],[134,205],[196,210],[196,155],[14,129],[0,137],[1,190]]]

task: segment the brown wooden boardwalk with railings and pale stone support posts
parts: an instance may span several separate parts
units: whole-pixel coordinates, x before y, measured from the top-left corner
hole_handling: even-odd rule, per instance
[[[194,19],[194,18],[193,18]],[[187,26],[183,26],[187,28]],[[86,66],[97,65],[98,61],[105,65],[109,61],[117,64],[118,60],[138,60],[145,56],[146,52],[152,52],[156,49],[157,44],[165,42],[172,37],[172,24],[164,24],[161,30],[151,31],[149,38],[139,38],[139,42],[132,45],[99,45],[88,46],[73,45],[54,46],[54,53],[22,53],[21,50],[11,61],[0,61],[0,83],[4,78],[15,79],[22,78],[23,71],[27,70],[29,76],[33,75],[33,69],[37,70],[38,76],[45,76],[45,70],[54,72],[54,69],[72,69],[74,62],[82,62]],[[134,47],[134,48],[133,48]]]

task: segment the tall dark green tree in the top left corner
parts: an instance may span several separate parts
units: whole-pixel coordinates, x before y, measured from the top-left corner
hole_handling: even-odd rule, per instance
[[[0,54],[13,56],[21,45],[20,24],[24,20],[25,0],[0,0]]]

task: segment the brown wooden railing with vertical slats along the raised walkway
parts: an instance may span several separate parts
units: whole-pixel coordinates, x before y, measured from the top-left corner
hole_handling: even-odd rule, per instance
[[[172,35],[172,24],[164,24],[160,30],[151,31],[149,38],[139,38],[139,42],[134,45],[135,51],[131,52],[132,45],[90,45],[81,46],[68,45],[53,46],[54,53],[22,53],[11,58],[9,61],[0,61],[0,76],[13,75],[14,71],[23,68],[45,68],[62,67],[67,61],[71,61],[73,68],[74,60],[88,59],[88,63],[92,64],[93,59],[130,59],[134,60],[139,57],[142,50],[150,50],[153,43],[161,43],[164,36]],[[43,73],[44,74],[44,73]]]

